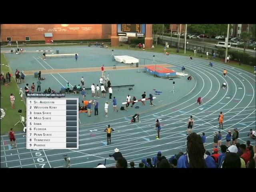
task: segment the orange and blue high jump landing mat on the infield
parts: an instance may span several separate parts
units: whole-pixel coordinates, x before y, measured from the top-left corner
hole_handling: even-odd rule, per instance
[[[156,74],[158,77],[173,77],[176,76],[176,71],[170,70],[168,68],[162,67],[160,65],[156,66],[145,66],[144,68],[145,72],[148,72],[149,74]]]

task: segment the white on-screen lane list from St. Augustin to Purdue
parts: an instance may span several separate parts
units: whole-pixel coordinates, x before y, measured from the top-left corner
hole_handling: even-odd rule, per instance
[[[79,98],[26,98],[27,149],[78,149]]]

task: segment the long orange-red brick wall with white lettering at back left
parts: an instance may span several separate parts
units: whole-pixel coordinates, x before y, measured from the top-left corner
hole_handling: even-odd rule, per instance
[[[44,33],[52,33],[53,40],[110,39],[111,24],[1,24],[1,40],[45,40]]]

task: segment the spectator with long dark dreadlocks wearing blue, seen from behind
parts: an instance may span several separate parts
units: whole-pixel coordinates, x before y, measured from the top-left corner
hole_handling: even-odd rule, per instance
[[[193,132],[187,140],[187,154],[180,156],[177,168],[216,168],[214,159],[204,154],[205,149],[200,135]]]

